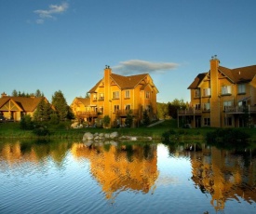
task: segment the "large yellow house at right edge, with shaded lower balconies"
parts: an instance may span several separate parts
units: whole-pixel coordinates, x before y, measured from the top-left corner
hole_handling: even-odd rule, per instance
[[[190,109],[178,111],[178,124],[191,127],[255,127],[256,65],[229,69],[216,56],[208,73],[188,87]]]

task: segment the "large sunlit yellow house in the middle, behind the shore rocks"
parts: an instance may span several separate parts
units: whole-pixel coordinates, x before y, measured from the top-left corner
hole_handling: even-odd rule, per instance
[[[113,74],[112,69],[106,66],[103,78],[88,93],[89,103],[75,98],[71,108],[76,117],[91,124],[109,115],[112,127],[124,126],[129,113],[135,127],[141,122],[145,110],[150,119],[156,118],[158,90],[149,74],[123,76]]]

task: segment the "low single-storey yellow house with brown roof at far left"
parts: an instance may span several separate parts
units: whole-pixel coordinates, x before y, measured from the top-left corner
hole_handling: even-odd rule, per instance
[[[46,98],[43,99],[47,101]],[[41,97],[9,97],[6,93],[2,93],[0,98],[0,115],[4,115],[7,119],[14,121],[20,121],[22,116],[26,114],[33,117],[41,100]]]

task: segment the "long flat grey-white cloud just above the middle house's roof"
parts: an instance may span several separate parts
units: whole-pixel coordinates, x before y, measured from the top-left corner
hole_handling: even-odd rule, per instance
[[[121,61],[113,67],[117,74],[155,74],[165,73],[177,68],[179,64],[173,62],[151,62],[146,60]]]

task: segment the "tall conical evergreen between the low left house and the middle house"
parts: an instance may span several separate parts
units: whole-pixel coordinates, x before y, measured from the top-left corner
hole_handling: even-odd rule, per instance
[[[56,91],[54,93],[51,99],[51,104],[54,106],[60,121],[64,121],[65,119],[68,119],[69,106],[61,90]]]

